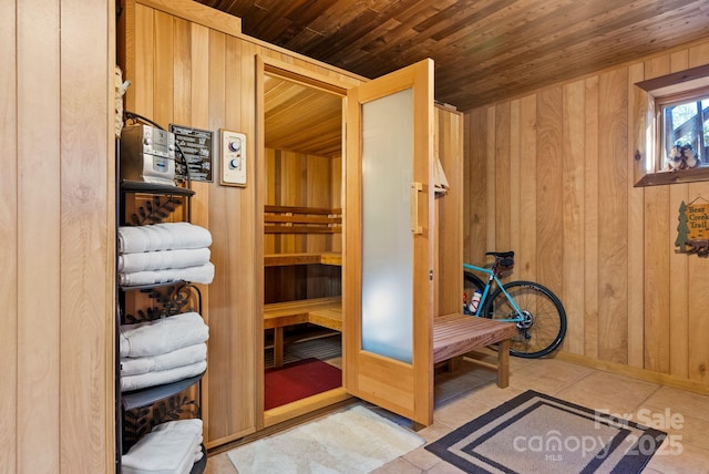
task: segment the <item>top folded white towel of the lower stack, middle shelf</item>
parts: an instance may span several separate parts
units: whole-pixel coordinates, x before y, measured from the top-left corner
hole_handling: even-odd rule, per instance
[[[191,311],[154,321],[121,326],[122,358],[160,356],[209,339],[209,328],[199,313]]]

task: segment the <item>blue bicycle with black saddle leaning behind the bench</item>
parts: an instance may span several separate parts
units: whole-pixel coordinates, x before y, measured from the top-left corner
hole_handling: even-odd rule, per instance
[[[534,281],[500,281],[514,266],[514,251],[485,255],[495,258],[491,268],[463,264],[463,313],[516,323],[517,334],[510,343],[512,356],[535,359],[553,352],[566,336],[562,301]],[[487,281],[472,271],[487,275]]]

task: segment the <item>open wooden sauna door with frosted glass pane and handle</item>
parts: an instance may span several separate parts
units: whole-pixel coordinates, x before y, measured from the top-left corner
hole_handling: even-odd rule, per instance
[[[433,62],[347,91],[343,379],[433,420]]]

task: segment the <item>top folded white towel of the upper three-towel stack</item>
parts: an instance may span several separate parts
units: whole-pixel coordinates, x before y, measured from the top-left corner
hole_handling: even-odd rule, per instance
[[[119,254],[203,248],[210,245],[209,230],[189,223],[119,227]]]

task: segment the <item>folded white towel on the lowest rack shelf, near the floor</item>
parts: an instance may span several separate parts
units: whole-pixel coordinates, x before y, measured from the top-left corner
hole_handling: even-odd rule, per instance
[[[202,439],[202,420],[158,424],[121,458],[123,474],[187,474]]]

